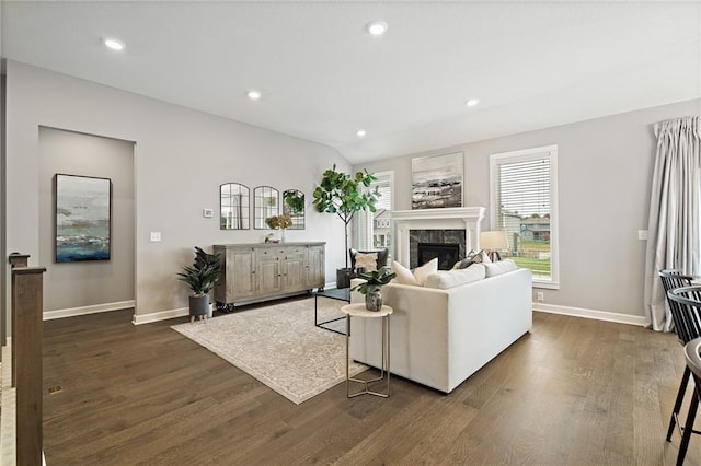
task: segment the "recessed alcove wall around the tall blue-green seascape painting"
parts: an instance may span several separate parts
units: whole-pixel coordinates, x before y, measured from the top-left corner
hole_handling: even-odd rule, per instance
[[[54,177],[110,178],[112,234],[110,260],[56,264]],[[134,142],[54,128],[39,128],[39,257],[44,311],[90,311],[134,300]]]

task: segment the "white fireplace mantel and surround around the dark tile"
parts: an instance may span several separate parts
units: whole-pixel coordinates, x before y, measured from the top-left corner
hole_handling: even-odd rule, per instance
[[[411,230],[462,230],[467,251],[480,246],[480,230],[484,207],[395,210],[392,222],[397,232],[397,261],[409,267],[409,232]]]

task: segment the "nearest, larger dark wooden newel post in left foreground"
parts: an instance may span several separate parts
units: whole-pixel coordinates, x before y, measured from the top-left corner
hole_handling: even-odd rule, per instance
[[[13,374],[16,387],[16,464],[41,465],[43,434],[44,267],[12,269]]]

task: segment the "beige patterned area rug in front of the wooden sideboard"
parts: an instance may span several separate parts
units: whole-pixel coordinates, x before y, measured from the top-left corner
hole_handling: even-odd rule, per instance
[[[319,298],[320,321],[343,316],[343,304]],[[298,405],[345,382],[346,337],[314,326],[313,298],[171,328]],[[366,369],[352,363],[350,376]]]

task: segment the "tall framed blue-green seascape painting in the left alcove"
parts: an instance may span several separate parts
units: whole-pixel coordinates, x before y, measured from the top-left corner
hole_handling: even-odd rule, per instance
[[[56,261],[110,260],[112,180],[56,174]]]

